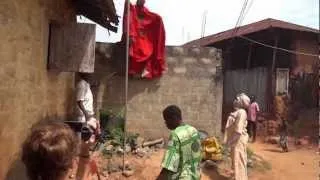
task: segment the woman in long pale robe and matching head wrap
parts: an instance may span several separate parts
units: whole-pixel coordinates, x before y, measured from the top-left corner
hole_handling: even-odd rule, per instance
[[[241,93],[233,101],[234,111],[230,113],[224,142],[231,148],[232,170],[235,180],[247,180],[247,112],[250,98]]]

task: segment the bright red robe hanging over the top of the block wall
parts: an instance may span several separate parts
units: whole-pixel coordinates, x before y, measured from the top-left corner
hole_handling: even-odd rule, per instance
[[[127,7],[127,6],[126,6]],[[145,7],[130,4],[129,75],[142,74],[152,79],[165,71],[165,29],[162,18]],[[127,8],[124,11],[123,36],[126,40]]]

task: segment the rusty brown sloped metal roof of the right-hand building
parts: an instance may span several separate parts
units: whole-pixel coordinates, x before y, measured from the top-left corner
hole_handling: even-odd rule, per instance
[[[243,36],[243,35],[255,33],[258,31],[263,31],[269,28],[280,28],[280,29],[287,29],[287,30],[294,30],[294,31],[319,33],[319,30],[317,29],[312,29],[309,27],[300,26],[297,24],[292,24],[292,23],[269,18],[269,19],[252,23],[252,24],[241,26],[238,28],[237,33],[234,33],[234,29],[230,29],[227,31],[223,31],[214,35],[210,35],[204,38],[200,38],[200,39],[188,42],[184,46],[207,46],[216,42],[224,41],[237,36]]]

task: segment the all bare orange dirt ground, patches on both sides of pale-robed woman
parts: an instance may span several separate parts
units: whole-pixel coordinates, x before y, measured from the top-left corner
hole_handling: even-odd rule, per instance
[[[266,172],[252,170],[249,173],[250,180],[315,180],[320,173],[318,166],[320,156],[317,154],[315,147],[298,148],[291,146],[290,152],[282,153],[277,145],[256,142],[249,146],[272,166],[272,169]],[[134,166],[134,175],[125,178],[120,174],[112,174],[108,179],[154,180],[160,172],[163,152],[163,150],[159,150],[144,158],[128,156],[126,160]],[[202,168],[201,174],[201,180],[229,179],[212,168]]]

